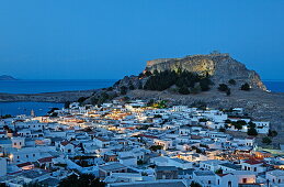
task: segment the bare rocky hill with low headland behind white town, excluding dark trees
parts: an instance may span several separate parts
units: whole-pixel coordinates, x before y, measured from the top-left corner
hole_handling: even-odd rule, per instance
[[[198,94],[191,92],[181,95],[173,91],[174,88],[162,91],[145,90],[144,86],[152,77],[156,70],[179,69],[196,73],[201,76],[209,77],[215,85],[207,91]],[[228,84],[234,79],[236,84]],[[160,81],[164,81],[161,79]],[[252,89],[249,91],[240,90],[243,82],[248,82]],[[227,84],[230,95],[218,90],[219,84]],[[241,107],[253,117],[254,120],[271,121],[273,130],[277,130],[279,136],[274,139],[277,143],[284,143],[284,94],[265,91],[266,88],[261,81],[260,76],[249,70],[243,64],[237,62],[228,54],[193,55],[183,58],[163,58],[147,62],[147,66],[138,76],[125,76],[110,88],[89,90],[89,91],[65,91],[55,94],[36,95],[10,95],[1,94],[0,101],[77,101],[83,103],[102,103],[113,98],[137,98],[137,99],[163,99],[169,105],[195,106],[206,105],[218,109],[229,109]]]

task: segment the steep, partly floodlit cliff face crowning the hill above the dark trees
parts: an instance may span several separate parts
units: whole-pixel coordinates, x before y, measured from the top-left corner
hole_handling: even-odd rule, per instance
[[[243,64],[231,58],[229,54],[192,55],[183,58],[163,58],[147,62],[146,70],[158,72],[178,70],[179,68],[194,72],[200,75],[211,75],[213,81],[226,84],[229,79],[235,79],[239,84],[248,82],[253,88],[266,90],[260,76],[249,70]]]

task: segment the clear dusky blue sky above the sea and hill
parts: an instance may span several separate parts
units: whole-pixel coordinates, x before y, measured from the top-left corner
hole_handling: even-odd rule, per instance
[[[284,79],[283,11],[283,0],[0,1],[0,75],[116,79],[218,50]]]

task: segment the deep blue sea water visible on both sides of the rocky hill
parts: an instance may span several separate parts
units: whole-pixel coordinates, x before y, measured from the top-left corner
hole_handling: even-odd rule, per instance
[[[112,86],[114,79],[94,80],[1,80],[0,92],[9,94],[39,94],[70,90],[90,90]],[[263,81],[269,90],[284,92],[284,80]],[[36,116],[46,114],[52,108],[63,108],[64,103],[55,102],[0,102],[0,116],[30,114],[34,110]]]

